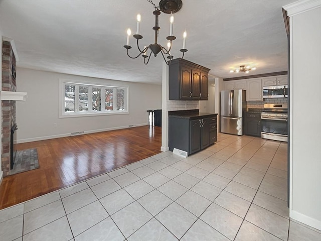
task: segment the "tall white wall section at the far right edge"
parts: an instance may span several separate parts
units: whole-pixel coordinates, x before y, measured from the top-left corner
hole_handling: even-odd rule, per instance
[[[313,2],[318,7],[311,10]],[[321,1],[316,2],[284,8],[290,17],[290,217],[321,230]]]

